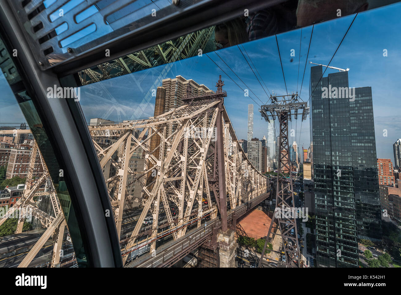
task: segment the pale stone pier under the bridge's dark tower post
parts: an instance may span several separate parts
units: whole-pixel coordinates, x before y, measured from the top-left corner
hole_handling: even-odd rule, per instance
[[[220,267],[235,267],[235,253],[238,243],[234,242],[234,233],[234,230],[228,229],[225,232],[219,232],[217,236],[217,242],[220,245]]]

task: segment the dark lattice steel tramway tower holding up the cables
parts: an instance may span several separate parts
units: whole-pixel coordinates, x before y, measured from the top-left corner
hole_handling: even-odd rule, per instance
[[[271,104],[262,105],[259,112],[262,117],[270,122],[270,120],[279,120],[279,157],[277,163],[277,182],[276,182],[276,208],[274,210],[273,218],[271,220],[267,236],[265,238],[265,245],[263,247],[262,255],[259,260],[259,267],[263,260],[266,250],[267,242],[273,240],[273,236],[280,231],[279,235],[282,238],[284,255],[286,257],[286,267],[292,266],[292,261],[298,256],[299,261],[299,245],[298,245],[298,230],[296,224],[296,217],[298,210],[294,207],[294,192],[292,188],[292,171],[291,162],[289,157],[289,143],[288,143],[288,121],[291,121],[294,115],[298,119],[298,113],[302,111],[302,121],[306,120],[309,113],[308,103],[304,102],[298,97],[297,93],[282,96],[271,96]],[[273,226],[273,224],[275,224]],[[272,229],[274,229],[272,231]],[[299,264],[298,264],[299,265]]]

